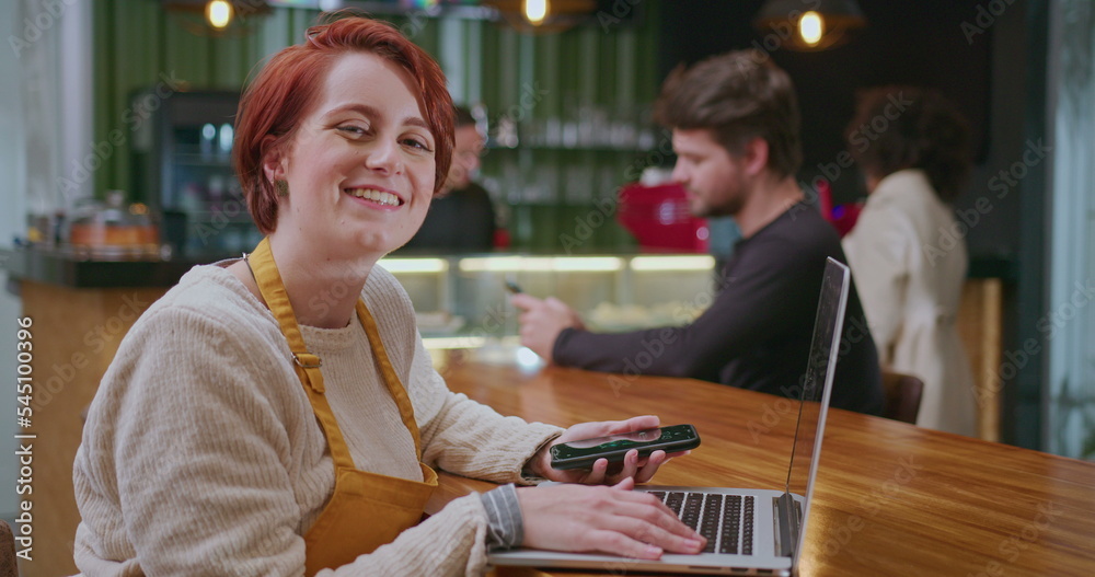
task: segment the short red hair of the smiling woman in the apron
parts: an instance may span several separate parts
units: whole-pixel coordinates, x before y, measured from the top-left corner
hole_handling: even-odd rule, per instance
[[[268,234],[277,228],[277,193],[263,174],[263,158],[292,138],[301,117],[318,97],[332,62],[347,53],[374,54],[411,74],[436,141],[434,192],[440,189],[452,160],[453,127],[452,99],[437,62],[390,24],[366,18],[312,26],[306,36],[307,42],[270,58],[243,91],[235,116],[232,161],[258,230]]]

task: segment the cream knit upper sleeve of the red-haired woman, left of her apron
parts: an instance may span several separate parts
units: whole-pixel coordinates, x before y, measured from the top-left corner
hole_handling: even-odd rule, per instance
[[[149,575],[299,574],[273,353],[198,311],[147,316],[104,378],[77,457],[81,569],[127,558]]]

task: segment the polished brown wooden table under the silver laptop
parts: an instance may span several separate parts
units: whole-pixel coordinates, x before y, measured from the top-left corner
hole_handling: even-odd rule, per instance
[[[522,370],[481,354],[449,351],[438,369],[453,391],[505,415],[695,425],[703,445],[665,465],[658,484],[782,488],[795,425],[787,400],[689,379]],[[1095,463],[840,409],[823,442],[803,575],[1095,575]],[[491,486],[442,474],[431,507]]]

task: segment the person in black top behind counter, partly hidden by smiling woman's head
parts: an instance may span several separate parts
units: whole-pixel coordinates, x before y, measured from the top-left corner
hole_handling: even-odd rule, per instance
[[[406,249],[486,252],[494,247],[494,205],[486,189],[472,181],[486,138],[466,106],[456,106],[456,124],[449,175]]]

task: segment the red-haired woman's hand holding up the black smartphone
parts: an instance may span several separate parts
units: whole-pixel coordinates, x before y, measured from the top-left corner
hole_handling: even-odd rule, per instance
[[[688,454],[688,451],[666,454],[665,451],[654,451],[649,457],[641,459],[638,450],[627,451],[622,464],[610,466],[608,459],[598,459],[592,469],[588,471],[560,471],[551,466],[551,446],[561,442],[591,439],[606,435],[616,435],[635,430],[653,429],[660,424],[658,417],[646,415],[632,417],[627,420],[601,420],[597,423],[579,423],[563,431],[558,438],[550,445],[541,448],[537,454],[529,460],[529,469],[538,476],[558,481],[563,483],[583,483],[586,485],[616,484],[631,478],[635,483],[646,483],[658,468],[669,461],[672,457]]]

